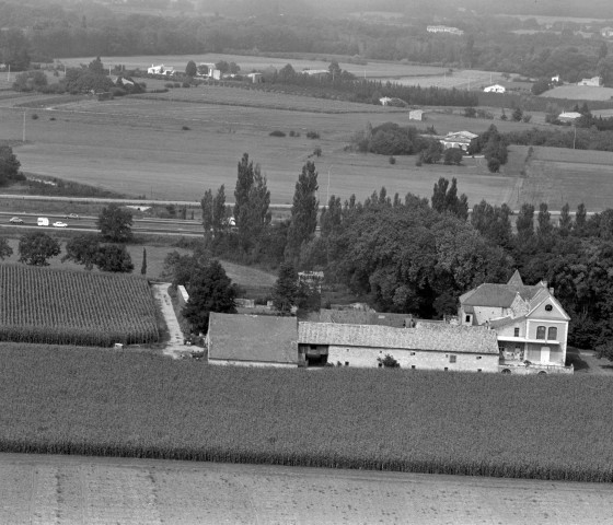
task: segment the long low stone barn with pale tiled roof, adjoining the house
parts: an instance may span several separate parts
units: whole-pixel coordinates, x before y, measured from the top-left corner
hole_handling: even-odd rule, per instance
[[[308,365],[378,368],[392,355],[403,369],[498,372],[496,332],[418,322],[414,328],[299,323],[299,359]]]

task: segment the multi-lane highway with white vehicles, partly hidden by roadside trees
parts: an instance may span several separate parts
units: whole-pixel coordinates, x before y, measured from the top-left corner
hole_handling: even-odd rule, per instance
[[[23,224],[12,224],[9,220],[19,217],[23,220]],[[38,217],[49,219],[48,226],[38,226]],[[54,228],[54,222],[63,222],[67,228]],[[82,232],[100,232],[96,228],[97,217],[83,215],[79,219],[67,219],[62,213],[14,213],[0,212],[0,228],[11,229],[13,231],[41,229],[41,230],[63,230],[63,231],[82,231]],[[183,236],[201,236],[203,225],[198,221],[181,220],[181,219],[135,219],[132,223],[132,232],[138,234],[155,234],[155,235],[183,235]]]

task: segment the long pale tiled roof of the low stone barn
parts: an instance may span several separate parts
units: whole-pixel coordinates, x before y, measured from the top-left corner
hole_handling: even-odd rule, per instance
[[[483,327],[417,323],[415,328],[299,323],[298,342],[439,352],[498,353],[496,332]]]

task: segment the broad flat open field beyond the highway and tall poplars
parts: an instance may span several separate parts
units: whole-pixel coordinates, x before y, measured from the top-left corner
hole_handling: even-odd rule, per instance
[[[252,92],[245,92],[245,96]],[[255,94],[259,96],[259,94]],[[282,97],[284,95],[277,95]],[[373,106],[375,107],[375,106]],[[97,103],[79,101],[53,110],[30,109],[37,120],[26,119],[24,145],[15,153],[24,171],[112,188],[127,195],[154,198],[198,199],[208,187],[225,184],[233,188],[236,163],[244,152],[259,163],[268,178],[274,203],[290,203],[302,165],[316,147],[323,155],[315,159],[320,172],[320,200],[329,195],[344,199],[352,192],[361,200],[374,189],[408,191],[429,197],[440,176],[458,170],[436,165],[417,168],[413,156],[398,158],[391,165],[386,156],[345,151],[351,136],[385,121],[408,124],[404,114],[381,113],[322,114],[266,107],[194,104],[142,98],[117,98]],[[0,139],[21,136],[23,114],[0,112]],[[54,118],[54,120],[51,120]],[[458,128],[485,130],[488,120],[451,119]],[[429,122],[421,122],[421,127]],[[190,128],[183,130],[183,126]],[[300,138],[274,138],[280,129],[301,132]],[[309,130],[319,140],[305,138]],[[443,129],[442,132],[447,132]],[[514,186],[514,178],[488,175],[485,167],[465,168],[461,190],[473,199],[500,202],[500,196]],[[491,186],[494,185],[494,188]],[[490,190],[493,189],[493,190]]]

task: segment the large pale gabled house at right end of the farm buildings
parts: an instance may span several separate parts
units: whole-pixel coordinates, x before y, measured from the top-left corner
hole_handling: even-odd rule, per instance
[[[459,318],[496,332],[502,373],[572,373],[570,317],[545,281],[527,285],[516,270],[506,284],[481,284],[460,296]]]

